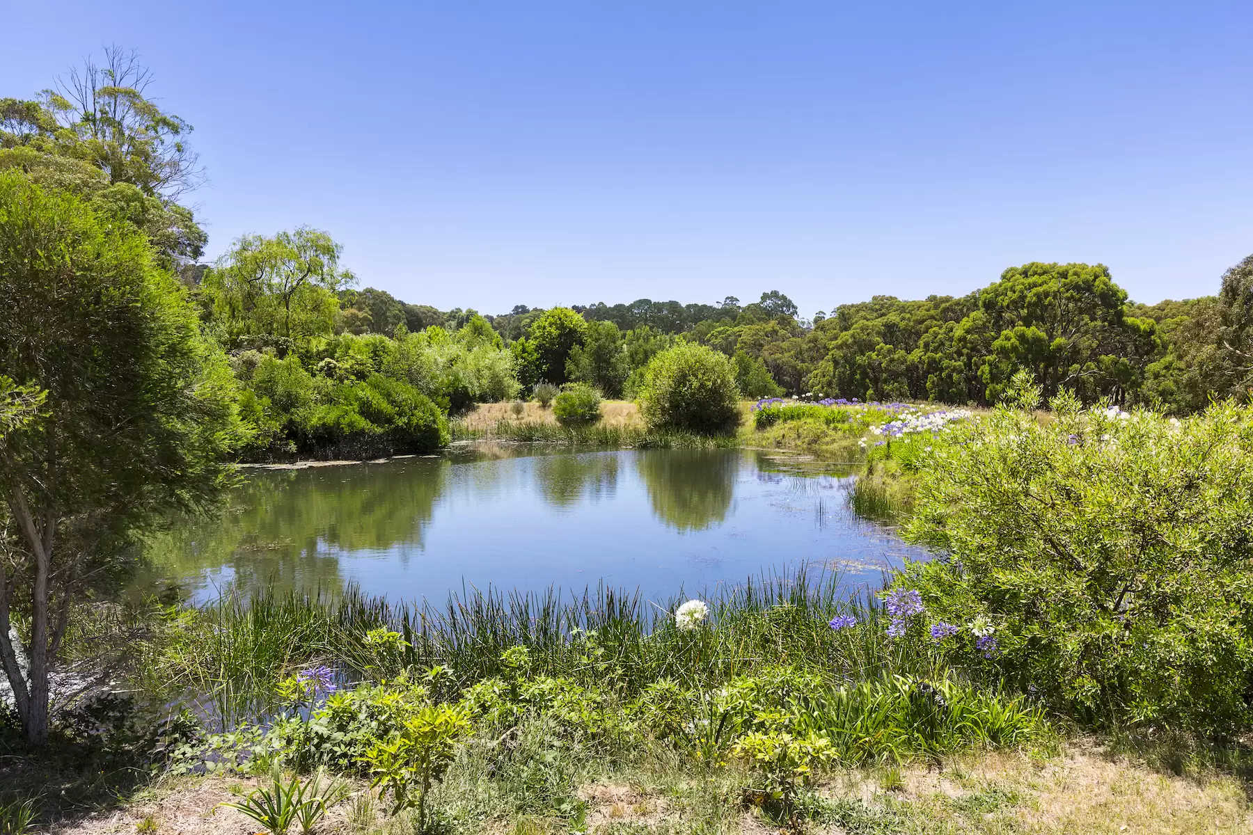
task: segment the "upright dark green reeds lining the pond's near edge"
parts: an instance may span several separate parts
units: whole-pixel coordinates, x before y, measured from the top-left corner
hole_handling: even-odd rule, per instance
[[[274,684],[303,665],[328,663],[350,680],[440,665],[464,686],[500,675],[511,646],[529,648],[536,672],[611,682],[624,695],[663,677],[715,686],[779,665],[819,670],[837,684],[931,670],[925,645],[886,637],[872,596],[847,592],[838,576],[803,567],[762,575],[704,595],[710,625],[693,632],[674,623],[684,596],[652,602],[603,583],[579,593],[469,588],[442,606],[391,602],[356,586],[340,595],[229,593],[170,613],[142,679],[229,726],[263,715]],[[833,631],[827,622],[836,615],[861,626]],[[407,647],[396,653],[368,642],[380,627],[400,632]]]

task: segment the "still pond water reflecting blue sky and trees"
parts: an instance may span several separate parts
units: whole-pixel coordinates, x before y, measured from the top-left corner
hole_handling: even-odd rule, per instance
[[[851,586],[923,556],[846,505],[851,479],[744,449],[536,453],[476,444],[415,457],[252,469],[222,518],[149,547],[147,583],[195,601],[341,590],[442,602],[449,591],[583,590],[650,600],[811,563]]]

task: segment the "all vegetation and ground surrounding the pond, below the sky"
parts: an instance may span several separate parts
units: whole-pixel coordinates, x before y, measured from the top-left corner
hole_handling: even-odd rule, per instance
[[[0,99],[0,835],[1253,830],[1253,255],[1154,305],[1032,262],[829,315],[437,310],[308,227],[200,263],[150,81],[110,49]],[[122,592],[236,463],[475,438],[865,462],[852,508],[936,558],[851,597]]]

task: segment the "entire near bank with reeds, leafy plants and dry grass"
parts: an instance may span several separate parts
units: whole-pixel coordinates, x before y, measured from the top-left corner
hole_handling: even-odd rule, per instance
[[[353,835],[1253,825],[1238,752],[1076,736],[992,670],[946,663],[925,630],[891,637],[891,613],[833,577],[756,578],[703,600],[708,616],[690,630],[675,620],[684,597],[654,606],[604,588],[470,592],[441,607],[351,592],[165,610],[137,684],[212,694],[202,719],[175,712],[120,796],[45,797],[43,820],[81,835],[244,835],[254,821],[214,807],[267,787],[279,761],[284,780],[307,782],[318,765],[340,775],[347,795],[320,831]],[[293,676],[320,665],[336,691],[293,695]],[[465,725],[419,826],[371,789],[370,762],[424,705]],[[232,730],[212,732],[223,724]]]

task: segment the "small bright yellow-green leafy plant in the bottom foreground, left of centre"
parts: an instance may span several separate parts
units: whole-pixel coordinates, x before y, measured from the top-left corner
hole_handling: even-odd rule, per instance
[[[378,741],[366,754],[372,786],[392,796],[392,814],[417,809],[417,831],[426,831],[426,799],[456,755],[457,742],[470,730],[461,707],[424,705],[395,736]]]

